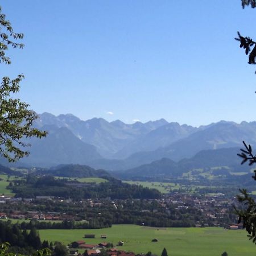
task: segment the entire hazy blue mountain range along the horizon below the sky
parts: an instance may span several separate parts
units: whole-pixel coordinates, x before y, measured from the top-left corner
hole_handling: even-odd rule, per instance
[[[16,166],[87,164],[97,169],[131,170],[163,158],[180,162],[193,158],[200,151],[222,154],[218,151],[221,148],[239,150],[242,141],[252,146],[256,144],[256,122],[220,121],[193,127],[165,119],[126,124],[119,120],[82,121],[72,114],[43,113],[34,126],[47,130],[48,136],[30,139],[30,156],[21,159]]]

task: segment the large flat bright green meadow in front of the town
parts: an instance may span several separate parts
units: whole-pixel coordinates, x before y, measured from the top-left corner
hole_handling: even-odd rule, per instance
[[[255,256],[256,245],[249,241],[244,230],[223,228],[150,228],[136,225],[113,225],[105,229],[39,230],[41,240],[60,241],[68,244],[82,240],[84,234],[96,234],[96,238],[84,240],[88,244],[104,241],[124,241],[119,249],[160,255],[166,247],[170,256],[218,256],[224,251],[229,256]],[[151,242],[157,238],[158,242]]]

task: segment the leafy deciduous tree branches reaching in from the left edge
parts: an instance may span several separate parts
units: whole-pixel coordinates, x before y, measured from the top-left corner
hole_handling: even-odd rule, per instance
[[[14,32],[1,7],[0,38],[0,63],[9,65],[11,60],[6,56],[6,51],[9,46],[23,48],[24,44],[20,43],[23,34]],[[13,94],[19,92],[19,83],[23,79],[23,75],[18,75],[15,79],[5,76],[0,85],[0,155],[10,162],[29,154],[25,150],[29,144],[24,142],[24,138],[46,136],[45,131],[32,127],[32,123],[37,118],[36,113],[28,109],[29,105],[26,102],[14,98]]]

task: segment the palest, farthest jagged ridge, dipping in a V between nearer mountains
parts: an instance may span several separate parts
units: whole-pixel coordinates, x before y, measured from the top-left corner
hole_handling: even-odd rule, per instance
[[[166,123],[168,122],[160,119],[147,123],[136,122],[129,125],[119,120],[108,122],[103,118],[92,118],[82,121],[72,114],[61,114],[56,117],[49,113],[43,113],[39,115],[35,126],[38,128],[44,125],[67,127],[82,142],[96,146],[102,156],[112,158],[126,144]]]

